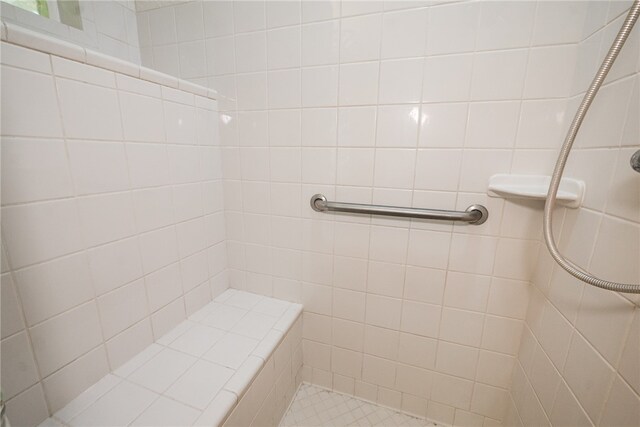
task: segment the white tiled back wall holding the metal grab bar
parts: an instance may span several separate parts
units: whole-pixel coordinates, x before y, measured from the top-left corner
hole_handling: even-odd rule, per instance
[[[307,381],[448,424],[513,415],[512,370],[522,383],[516,355],[531,335],[530,293],[540,295],[530,283],[542,203],[488,198],[487,181],[551,172],[619,20],[598,30],[630,3],[195,1],[138,13],[143,63],[220,95],[231,286],[304,303]],[[603,97],[629,101],[635,60]],[[602,118],[585,133],[619,129],[621,108],[594,107]],[[607,140],[612,176],[629,149]],[[567,217],[602,210],[591,200],[606,193],[601,169],[578,158],[595,162],[602,145],[588,146],[568,170],[587,181],[587,209]],[[474,227],[320,214],[315,193],[483,203],[490,217]],[[607,242],[625,234],[629,206],[603,222]]]

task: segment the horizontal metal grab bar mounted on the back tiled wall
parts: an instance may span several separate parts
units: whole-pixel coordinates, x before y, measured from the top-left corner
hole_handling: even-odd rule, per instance
[[[399,206],[363,205],[360,203],[329,202],[322,194],[311,196],[311,208],[316,212],[349,212],[405,218],[440,219],[462,221],[473,225],[483,224],[489,217],[489,211],[482,205],[471,205],[467,210],[444,211],[440,209],[403,208]]]

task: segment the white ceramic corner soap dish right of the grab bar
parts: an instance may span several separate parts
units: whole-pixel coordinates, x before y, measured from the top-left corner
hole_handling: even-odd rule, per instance
[[[537,199],[546,200],[549,190],[550,176],[545,175],[509,175],[496,174],[489,178],[487,193],[491,197],[505,199]],[[556,199],[558,203],[578,208],[582,204],[585,184],[573,178],[562,178]]]

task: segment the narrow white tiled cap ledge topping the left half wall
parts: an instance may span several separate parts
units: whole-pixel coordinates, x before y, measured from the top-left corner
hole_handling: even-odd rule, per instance
[[[106,70],[127,74],[129,76],[158,83],[163,86],[180,89],[200,96],[206,96],[207,98],[218,98],[217,92],[213,89],[208,89],[189,81],[182,80],[132,62],[114,58],[91,49],[85,49],[82,46],[56,39],[36,31],[28,30],[10,22],[1,21],[0,24],[2,40],[7,43],[39,50],[44,53],[104,68]]]

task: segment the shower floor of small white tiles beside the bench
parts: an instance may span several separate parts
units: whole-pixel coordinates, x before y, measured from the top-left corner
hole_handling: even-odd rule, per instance
[[[421,418],[352,396],[302,384],[280,427],[310,426],[436,426]]]

